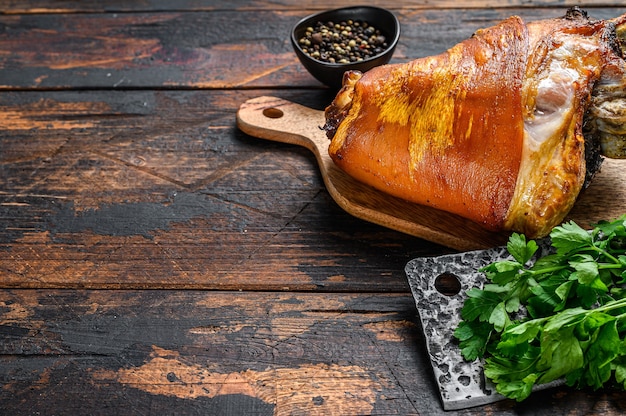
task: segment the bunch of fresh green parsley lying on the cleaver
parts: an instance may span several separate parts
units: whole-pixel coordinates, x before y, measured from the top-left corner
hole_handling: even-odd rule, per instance
[[[535,384],[564,379],[626,389],[626,215],[591,231],[574,222],[550,233],[549,254],[513,234],[511,259],[481,269],[454,335],[464,358],[484,358],[496,390],[522,401]]]

